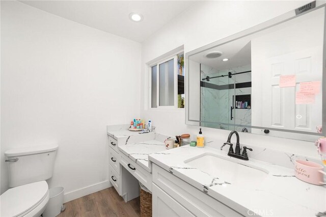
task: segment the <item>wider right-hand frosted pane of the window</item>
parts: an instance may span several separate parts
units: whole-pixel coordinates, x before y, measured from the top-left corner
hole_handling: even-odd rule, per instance
[[[174,59],[159,64],[159,105],[174,105]]]

